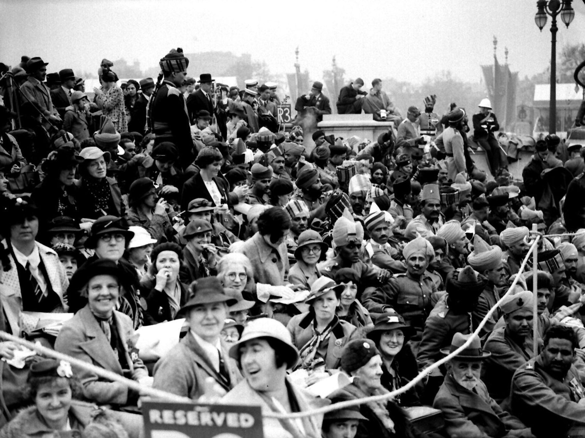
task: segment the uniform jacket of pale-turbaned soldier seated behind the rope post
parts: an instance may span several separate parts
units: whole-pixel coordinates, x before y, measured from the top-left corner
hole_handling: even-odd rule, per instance
[[[490,352],[481,369],[481,380],[486,384],[491,397],[501,403],[510,395],[510,384],[514,372],[533,356],[532,335],[526,336],[522,345],[512,339],[505,327],[497,328],[488,336],[483,347]]]

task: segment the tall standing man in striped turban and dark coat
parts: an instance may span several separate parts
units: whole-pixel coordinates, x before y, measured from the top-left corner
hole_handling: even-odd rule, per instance
[[[149,128],[156,136],[154,144],[170,141],[178,148],[181,168],[185,169],[195,158],[185,98],[179,91],[183,85],[189,60],[183,50],[174,48],[159,62],[164,74],[150,98]]]

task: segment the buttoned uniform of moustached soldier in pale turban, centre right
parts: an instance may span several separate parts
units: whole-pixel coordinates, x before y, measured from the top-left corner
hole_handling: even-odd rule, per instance
[[[433,279],[423,273],[420,279],[411,274],[395,274],[387,284],[364,291],[362,304],[370,314],[381,314],[388,308],[397,311],[407,324],[422,333],[425,319],[432,310],[431,294],[436,292]]]

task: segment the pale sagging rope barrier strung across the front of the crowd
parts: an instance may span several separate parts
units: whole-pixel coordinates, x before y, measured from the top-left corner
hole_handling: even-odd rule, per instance
[[[528,263],[528,258],[530,256],[530,253],[531,253],[531,251],[533,251],[536,248],[536,245],[538,244],[539,239],[541,239],[541,235],[536,235],[534,242],[531,243],[531,247],[530,247],[528,253],[526,254],[524,260],[522,260],[522,264],[520,265],[518,272],[524,271],[524,268],[526,267],[526,263]],[[497,303],[495,303],[494,307],[492,307],[487,312],[486,316],[481,320],[480,324],[477,326],[476,331],[473,332],[474,335],[477,336],[479,334],[480,330],[483,328],[483,326],[486,325],[487,320],[491,317],[491,315],[494,313],[494,311],[502,303],[504,298],[507,297],[508,294],[510,294],[510,291],[516,286],[516,284],[518,283],[519,277],[520,277],[519,275],[515,276],[514,281],[512,281],[511,286],[508,288],[508,291],[504,294],[504,296],[502,296],[500,298],[500,300],[498,300]],[[535,324],[536,324],[536,321],[535,321]],[[0,338],[6,339],[6,340],[12,340],[13,342],[16,342],[16,343],[19,343],[20,345],[26,346],[27,348],[29,348],[31,350],[35,350],[41,354],[44,354],[44,356],[54,357],[54,359],[59,359],[59,360],[66,360],[75,366],[90,370],[90,371],[92,371],[92,373],[95,373],[100,377],[122,383],[122,384],[132,388],[133,390],[139,391],[140,394],[143,394],[143,395],[148,395],[150,397],[153,397],[153,398],[156,398],[159,400],[162,399],[162,400],[166,400],[166,401],[193,402],[193,400],[191,400],[189,398],[180,397],[176,394],[171,394],[170,392],[155,390],[154,388],[146,387],[144,385],[137,383],[136,381],[119,376],[119,374],[112,373],[111,371],[107,371],[105,369],[99,368],[99,367],[94,366],[92,364],[88,364],[88,363],[81,361],[79,359],[75,359],[74,357],[70,357],[70,356],[67,356],[66,354],[56,352],[55,350],[51,350],[49,348],[46,348],[46,347],[43,347],[40,345],[36,345],[36,344],[34,344],[30,341],[27,341],[25,339],[17,338],[16,336],[13,336],[13,335],[6,333],[6,332],[0,331]],[[396,395],[399,395],[399,394],[402,394],[403,392],[408,391],[410,388],[414,387],[414,385],[416,385],[419,381],[423,380],[426,376],[428,376],[428,374],[432,370],[438,369],[438,367],[440,367],[442,364],[444,364],[447,361],[449,361],[450,359],[452,359],[453,356],[456,356],[457,354],[462,352],[464,349],[466,349],[470,345],[470,343],[472,343],[472,340],[473,339],[470,336],[470,338],[467,339],[467,341],[462,346],[457,348],[454,352],[443,357],[443,359],[440,359],[440,360],[436,361],[435,363],[431,364],[431,366],[422,370],[418,374],[418,376],[413,378],[411,381],[409,381],[409,383],[407,383],[406,385],[404,385],[401,388],[398,388],[397,390],[388,392],[388,394],[373,395],[370,397],[359,398],[359,399],[349,400],[349,401],[345,401],[345,402],[339,402],[339,403],[335,403],[333,405],[324,406],[323,408],[312,409],[311,411],[305,411],[305,412],[293,412],[293,413],[278,413],[278,412],[264,413],[263,412],[262,416],[265,418],[276,418],[276,419],[304,418],[304,417],[308,417],[308,416],[312,416],[312,415],[321,415],[321,414],[324,414],[326,412],[337,411],[339,409],[348,408],[350,406],[361,405],[361,404],[367,403],[367,402],[382,401],[382,400],[393,398]]]

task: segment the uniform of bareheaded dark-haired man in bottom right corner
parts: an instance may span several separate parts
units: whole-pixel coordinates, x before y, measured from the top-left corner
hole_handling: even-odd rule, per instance
[[[574,366],[560,381],[546,372],[540,354],[512,377],[512,413],[537,437],[566,437],[572,426],[585,427],[585,406],[579,404],[584,397]]]

